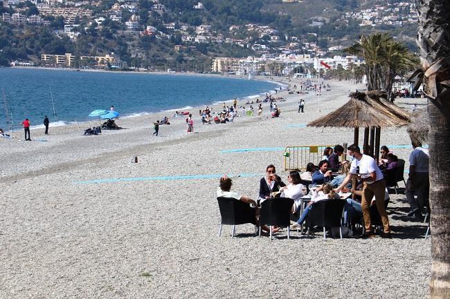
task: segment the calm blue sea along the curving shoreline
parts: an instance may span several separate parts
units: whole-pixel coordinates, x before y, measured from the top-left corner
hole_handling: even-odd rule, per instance
[[[86,121],[91,111],[109,110],[111,105],[121,117],[192,110],[257,97],[277,86],[269,81],[216,76],[0,68],[0,128],[10,128],[11,120],[18,128],[26,117],[32,126],[41,125],[45,115],[58,124]]]

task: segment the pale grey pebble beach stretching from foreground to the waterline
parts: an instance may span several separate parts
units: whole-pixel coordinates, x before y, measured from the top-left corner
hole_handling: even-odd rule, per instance
[[[297,83],[293,81],[291,83]],[[303,124],[338,108],[350,82],[330,91],[282,93],[281,117],[240,116],[233,124],[201,125],[186,134],[184,117],[170,117],[152,137],[156,113],[120,119],[127,130],[83,136],[77,126],[0,138],[1,298],[424,298],[430,242],[426,226],[406,218],[404,195],[391,195],[394,238],[323,241],[285,232],[254,238],[253,227],[231,226],[217,237],[217,176],[243,174],[233,189],[257,197],[265,166],[286,180],[289,145],[352,141],[352,131]],[[423,99],[398,100],[408,108]],[[243,103],[239,103],[241,105]],[[247,105],[248,107],[249,105]],[[254,105],[256,106],[256,105]],[[218,110],[220,107],[215,107]],[[192,109],[195,111],[195,109]],[[167,114],[167,113],[165,113]],[[170,115],[168,115],[170,116]],[[93,124],[93,122],[91,122]],[[405,128],[384,130],[381,144],[408,144]],[[223,153],[223,150],[253,151]],[[408,148],[394,149],[407,160]],[[138,163],[131,163],[137,156]],[[401,184],[402,185],[402,184]]]

